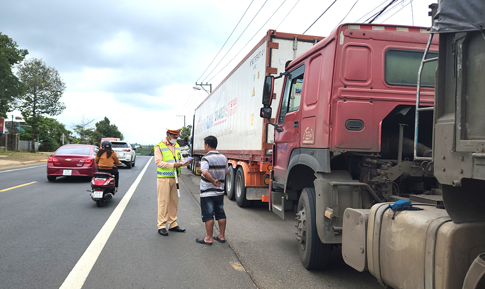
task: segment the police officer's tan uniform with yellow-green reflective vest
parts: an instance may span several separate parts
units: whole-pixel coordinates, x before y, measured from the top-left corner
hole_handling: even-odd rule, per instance
[[[179,130],[175,130],[179,131]],[[167,137],[168,138],[168,137]],[[176,162],[184,161],[180,146],[170,143],[167,138],[155,145],[154,155],[157,165],[158,228],[174,228],[177,225],[178,194],[175,175],[181,168],[174,168]],[[178,177],[180,182],[180,177]]]

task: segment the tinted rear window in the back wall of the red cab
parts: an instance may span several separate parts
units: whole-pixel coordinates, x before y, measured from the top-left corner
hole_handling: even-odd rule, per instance
[[[424,51],[388,49],[386,51],[385,80],[389,85],[416,86],[418,70]],[[426,59],[438,57],[437,52],[428,52]],[[437,61],[424,64],[421,73],[421,86],[435,86]]]

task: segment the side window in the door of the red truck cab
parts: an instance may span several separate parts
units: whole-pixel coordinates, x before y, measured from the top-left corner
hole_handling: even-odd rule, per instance
[[[305,65],[301,65],[286,76],[285,92],[281,99],[281,110],[278,118],[279,125],[285,122],[285,116],[288,112],[294,112],[300,108],[304,72]]]

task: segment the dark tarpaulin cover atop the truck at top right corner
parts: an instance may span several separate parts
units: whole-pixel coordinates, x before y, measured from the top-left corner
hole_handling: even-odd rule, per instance
[[[439,0],[432,33],[485,28],[485,0]]]

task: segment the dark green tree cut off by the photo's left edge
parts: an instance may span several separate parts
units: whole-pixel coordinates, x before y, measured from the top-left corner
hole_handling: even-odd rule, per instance
[[[12,73],[12,68],[29,52],[17,47],[14,40],[0,32],[0,118],[13,110],[16,99],[25,92],[25,86]]]

